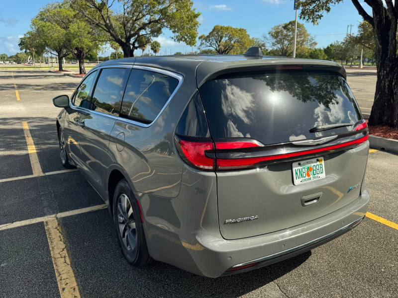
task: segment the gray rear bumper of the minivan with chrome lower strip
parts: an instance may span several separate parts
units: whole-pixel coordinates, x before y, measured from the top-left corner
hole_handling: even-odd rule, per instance
[[[277,232],[237,240],[222,238],[219,230],[215,233],[205,229],[191,230],[189,238],[187,231],[182,234],[181,230],[173,236],[170,231],[166,234],[160,230],[159,225],[147,222],[147,232],[152,234],[147,238],[148,247],[154,259],[198,275],[216,278],[237,274],[291,258],[342,235],[362,221],[368,203],[369,193],[362,190],[355,201],[331,214]],[[227,271],[252,262],[258,263]]]

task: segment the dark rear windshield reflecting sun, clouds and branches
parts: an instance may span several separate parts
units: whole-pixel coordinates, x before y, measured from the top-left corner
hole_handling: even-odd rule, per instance
[[[229,74],[199,90],[213,138],[285,143],[351,131],[352,126],[309,132],[362,119],[345,79],[333,73]]]

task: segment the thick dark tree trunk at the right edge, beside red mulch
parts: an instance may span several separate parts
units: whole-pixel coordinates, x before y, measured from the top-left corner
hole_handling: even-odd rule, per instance
[[[377,81],[369,125],[398,128],[397,18],[374,8],[373,20]]]

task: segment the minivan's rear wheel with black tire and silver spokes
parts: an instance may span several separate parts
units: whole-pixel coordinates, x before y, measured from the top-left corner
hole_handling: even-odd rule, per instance
[[[113,223],[121,251],[127,262],[136,267],[151,263],[153,259],[146,245],[140,210],[126,179],[120,180],[115,188]]]

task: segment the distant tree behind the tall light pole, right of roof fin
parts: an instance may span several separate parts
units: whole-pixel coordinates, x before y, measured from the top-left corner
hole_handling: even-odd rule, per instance
[[[293,56],[295,21],[272,27],[268,34],[263,34],[263,39],[271,49],[275,50],[277,56]],[[305,53],[307,49],[313,49],[315,46],[316,42],[304,25],[297,23],[296,51]],[[305,56],[305,54],[301,56]]]

